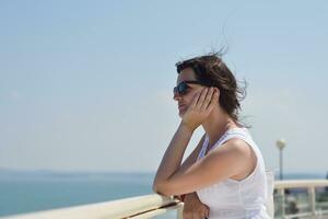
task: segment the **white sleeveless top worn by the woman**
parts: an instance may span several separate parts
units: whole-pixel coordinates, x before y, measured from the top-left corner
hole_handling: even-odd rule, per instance
[[[209,219],[270,218],[266,209],[267,175],[265,161],[248,130],[246,128],[227,130],[211,150],[232,138],[242,139],[251,147],[257,158],[255,170],[242,181],[226,178],[196,191],[197,195],[201,203],[209,206]],[[209,137],[207,135],[197,160],[204,157],[208,145]]]

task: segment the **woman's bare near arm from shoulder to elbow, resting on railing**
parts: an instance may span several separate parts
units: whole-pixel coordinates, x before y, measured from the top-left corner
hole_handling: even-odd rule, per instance
[[[191,193],[244,172],[253,159],[244,140],[230,139],[187,170],[178,169],[167,180],[160,180],[153,189],[165,196]]]

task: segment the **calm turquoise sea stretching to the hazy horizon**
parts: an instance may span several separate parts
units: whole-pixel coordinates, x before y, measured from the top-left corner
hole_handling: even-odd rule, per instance
[[[0,217],[153,194],[154,176],[0,169]],[[286,178],[325,178],[325,174],[289,174]]]

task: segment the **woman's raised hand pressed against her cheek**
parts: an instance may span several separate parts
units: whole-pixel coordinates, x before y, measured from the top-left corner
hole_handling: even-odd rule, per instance
[[[197,93],[190,106],[181,117],[181,124],[187,126],[190,130],[195,130],[200,126],[210,115],[214,105],[219,102],[219,89],[204,88]]]

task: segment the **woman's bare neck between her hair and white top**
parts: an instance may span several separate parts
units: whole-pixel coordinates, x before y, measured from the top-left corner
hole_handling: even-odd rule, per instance
[[[214,108],[202,127],[209,136],[209,145],[213,146],[226,130],[238,127],[238,124],[221,108]]]

